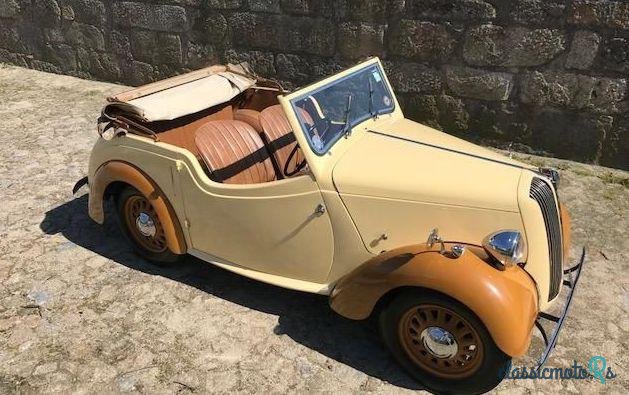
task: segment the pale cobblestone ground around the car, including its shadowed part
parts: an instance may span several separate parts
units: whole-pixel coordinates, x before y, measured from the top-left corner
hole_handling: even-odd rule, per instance
[[[120,86],[0,65],[0,393],[404,392],[421,389],[377,333],[323,297],[193,258],[160,269],[98,226],[85,175],[106,94]],[[563,171],[587,266],[549,366],[592,355],[618,375],[505,381],[499,393],[629,391],[629,175],[518,155]],[[573,256],[578,254],[575,247]],[[531,365],[541,349],[534,339]]]

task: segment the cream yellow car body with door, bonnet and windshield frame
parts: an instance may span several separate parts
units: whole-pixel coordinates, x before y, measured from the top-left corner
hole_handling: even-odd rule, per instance
[[[369,60],[305,90],[376,63],[378,59]],[[535,316],[553,302],[546,298],[549,247],[544,220],[539,206],[528,198],[531,179],[543,176],[530,166],[404,118],[395,98],[392,113],[362,122],[329,152],[317,155],[307,149],[291,107],[291,100],[303,93],[278,99],[298,144],[306,147],[308,174],[263,184],[217,183],[190,151],[126,133],[97,141],[90,185],[99,183],[99,170],[109,163],[137,168],[169,202],[184,252],[256,280],[324,295],[386,251],[425,246],[434,228],[449,245],[471,246],[463,258],[484,265],[471,252],[482,249],[474,246],[497,230],[521,231],[528,245],[525,269],[510,268],[504,276],[517,277],[529,296],[521,303],[526,311],[517,318],[525,321],[518,343],[503,350],[510,355],[525,352]],[[102,207],[102,195],[90,197],[90,215],[101,223]],[[429,250],[440,256],[438,247]],[[492,268],[487,273],[493,273],[489,283],[503,281],[500,271]],[[464,279],[457,281],[444,287],[463,286]],[[496,312],[496,318],[502,313]]]

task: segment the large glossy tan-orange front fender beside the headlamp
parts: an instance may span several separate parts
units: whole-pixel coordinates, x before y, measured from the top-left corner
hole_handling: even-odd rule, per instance
[[[523,269],[499,271],[479,258],[482,254],[482,249],[468,247],[452,258],[425,245],[383,253],[343,277],[330,305],[342,316],[364,319],[391,290],[432,289],[472,310],[503,352],[524,355],[538,313],[535,284]]]

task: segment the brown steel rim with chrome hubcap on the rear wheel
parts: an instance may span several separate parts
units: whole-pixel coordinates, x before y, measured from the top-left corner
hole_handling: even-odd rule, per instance
[[[124,217],[127,229],[131,237],[142,248],[155,253],[161,253],[168,248],[164,228],[159,222],[157,212],[153,205],[144,196],[131,196],[124,205]],[[147,219],[148,218],[148,219]],[[140,226],[140,221],[150,221],[151,232],[147,233],[147,228]]]

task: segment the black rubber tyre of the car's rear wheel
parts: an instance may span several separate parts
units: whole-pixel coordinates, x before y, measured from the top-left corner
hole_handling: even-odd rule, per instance
[[[136,254],[138,254],[142,258],[160,266],[170,265],[179,262],[184,257],[184,255],[173,253],[168,248],[168,246],[165,245],[165,241],[161,240],[161,237],[159,243],[152,243],[149,237],[144,236],[145,239],[143,240],[143,235],[139,234],[137,229],[131,228],[131,226],[133,225],[129,223],[130,220],[128,220],[127,217],[128,215],[130,215],[130,213],[128,212],[128,205],[130,201],[140,201],[142,199],[144,199],[149,205],[147,206],[147,211],[150,212],[151,210],[153,210],[151,218],[153,221],[155,221],[158,229],[159,227],[161,227],[157,216],[154,214],[154,209],[152,209],[152,206],[150,205],[150,202],[148,201],[146,196],[144,196],[137,189],[129,186],[122,189],[120,193],[115,197],[116,211],[118,214],[118,224],[120,225],[122,233],[127,238],[129,243],[131,243]]]

